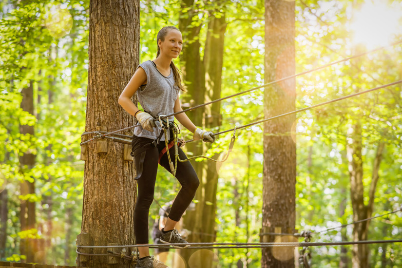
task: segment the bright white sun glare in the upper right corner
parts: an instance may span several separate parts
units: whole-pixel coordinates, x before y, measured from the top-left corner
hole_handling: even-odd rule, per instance
[[[366,0],[358,10],[353,11],[350,24],[353,42],[367,48],[386,45],[402,36],[402,4],[394,1]]]

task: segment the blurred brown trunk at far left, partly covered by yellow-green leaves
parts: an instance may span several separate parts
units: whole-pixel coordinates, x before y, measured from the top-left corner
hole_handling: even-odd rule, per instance
[[[31,81],[26,88],[21,91],[22,101],[21,109],[34,115],[34,86]],[[22,135],[30,135],[31,138],[34,136],[34,126],[20,125],[19,132]],[[28,138],[30,140],[30,138]],[[21,172],[25,173],[31,170],[35,165],[35,154],[33,149],[28,149],[27,152],[19,158],[19,163],[21,166]],[[24,180],[20,183],[20,194],[35,194],[35,180],[31,178],[30,181]],[[36,227],[36,212],[35,212],[35,202],[28,200],[21,200],[19,220],[21,224],[21,231],[31,230]],[[20,253],[21,255],[26,255],[26,262],[34,262],[35,258],[35,240],[32,238],[21,239]]]

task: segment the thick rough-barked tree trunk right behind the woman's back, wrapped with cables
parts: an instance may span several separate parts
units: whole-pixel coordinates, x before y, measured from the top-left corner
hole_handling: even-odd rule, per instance
[[[139,64],[139,14],[138,0],[90,1],[86,132],[95,131],[97,126],[114,131],[134,125],[134,117],[117,100]],[[133,162],[123,160],[123,145],[112,141],[107,141],[107,153],[97,153],[99,142],[88,143],[81,233],[88,233],[94,246],[133,245],[136,196]],[[130,254],[131,249],[126,250]],[[106,253],[106,249],[92,252]],[[91,256],[85,262],[80,261],[79,266],[115,267],[108,265],[107,260]],[[119,267],[130,267],[119,260]]]

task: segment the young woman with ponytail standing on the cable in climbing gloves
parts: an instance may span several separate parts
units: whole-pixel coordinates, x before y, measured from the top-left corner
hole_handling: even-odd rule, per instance
[[[155,119],[159,115],[170,115],[182,111],[179,91],[185,90],[179,71],[172,62],[173,58],[179,56],[182,49],[183,40],[180,31],[173,26],[164,27],[158,32],[156,42],[158,46],[156,58],[138,66],[118,100],[123,109],[133,115],[141,124],[134,129],[132,142],[137,170],[136,179],[138,179],[137,202],[134,209],[134,233],[137,244],[148,244],[149,241],[148,216],[153,202],[158,162],[171,172],[168,157],[166,153],[161,154],[161,152],[166,148],[165,139],[172,141],[172,131],[169,131],[168,137],[165,137],[160,124]],[[140,111],[131,101],[134,93],[137,94],[144,111]],[[215,141],[212,132],[197,128],[185,113],[178,114],[175,118],[194,134],[194,140]],[[169,122],[172,122],[173,119],[171,116]],[[174,155],[174,148],[171,148],[169,152]],[[179,157],[187,159],[180,148]],[[178,162],[175,177],[182,188],[174,199],[168,220],[161,231],[160,241],[162,243],[188,243],[174,227],[194,198],[199,180],[190,162]],[[189,246],[176,248],[187,247]],[[138,250],[140,258],[136,268],[167,267],[150,256],[148,247],[139,247]]]

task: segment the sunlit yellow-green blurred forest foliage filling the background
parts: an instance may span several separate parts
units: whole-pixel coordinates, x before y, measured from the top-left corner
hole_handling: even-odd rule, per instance
[[[383,10],[367,15],[359,10],[373,3],[368,0],[296,1],[296,73],[402,38],[401,16],[393,13],[402,14],[401,1],[379,2]],[[202,8],[193,21],[201,26],[201,56],[210,8],[206,3],[198,1]],[[143,0],[140,7],[142,62],[155,57],[158,30],[177,25],[180,1]],[[221,95],[228,96],[264,84],[264,1],[227,1],[221,13],[227,23]],[[43,250],[37,257],[46,264],[75,265],[82,217],[84,162],[79,142],[86,113],[89,0],[2,0],[0,17],[0,261],[24,261],[21,241],[31,238],[41,241]],[[180,59],[175,63],[180,66]],[[387,47],[298,77],[296,108],[401,77],[402,46]],[[21,108],[22,89],[29,87],[32,113]],[[263,104],[263,90],[223,101],[220,130],[263,119]],[[319,232],[352,221],[346,145],[353,122],[362,126],[367,196],[373,162],[383,147],[373,214],[401,206],[401,104],[401,86],[394,86],[297,115],[289,130],[297,155],[297,230]],[[33,127],[33,134],[21,134],[22,126]],[[217,242],[257,242],[262,226],[263,126],[237,134],[234,152],[219,170]],[[224,151],[230,137],[221,135],[207,155]],[[24,164],[27,154],[35,155],[33,165]],[[161,170],[157,182],[155,199],[160,204],[172,200],[179,185],[170,174]],[[35,215],[32,228],[22,230],[24,206]],[[155,202],[151,210],[150,222],[159,210]],[[401,212],[373,220],[369,239],[401,238],[400,216]],[[314,234],[312,241],[351,240],[352,229]],[[312,248],[312,267],[341,267],[341,262],[350,267],[350,249]],[[402,266],[401,244],[371,245],[369,250],[372,267]],[[261,266],[259,249],[214,252],[223,268]]]

